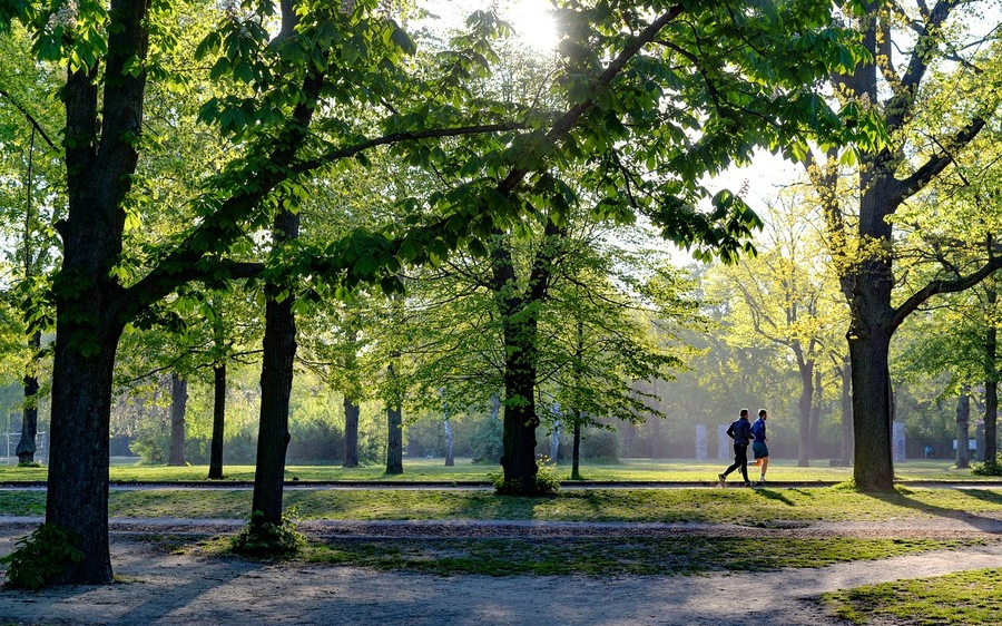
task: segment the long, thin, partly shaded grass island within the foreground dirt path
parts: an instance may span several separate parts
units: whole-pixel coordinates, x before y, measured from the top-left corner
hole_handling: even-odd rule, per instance
[[[824,567],[971,545],[896,539],[752,537],[351,540],[313,544],[306,560],[438,575],[694,575]]]

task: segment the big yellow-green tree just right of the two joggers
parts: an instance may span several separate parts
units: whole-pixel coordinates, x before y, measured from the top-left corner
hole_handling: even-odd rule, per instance
[[[855,153],[804,155],[823,198],[828,241],[849,304],[854,477],[864,489],[893,489],[892,335],[935,294],[967,288],[1002,266],[1002,257],[989,253],[960,274],[925,274],[929,281],[922,285],[895,288],[902,276],[895,271],[897,214],[963,164],[975,139],[996,119],[998,29],[986,36],[979,31],[980,25],[998,22],[982,17],[992,10],[991,2],[954,0],[846,7],[846,19],[870,57],[853,71],[833,74],[833,89],[844,109],[878,115],[886,140],[857,145]],[[853,165],[854,155],[854,192],[843,195],[839,162]]]

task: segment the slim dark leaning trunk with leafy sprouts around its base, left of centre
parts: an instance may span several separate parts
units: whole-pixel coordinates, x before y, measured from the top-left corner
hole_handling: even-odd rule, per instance
[[[299,235],[299,216],[284,211],[275,217],[276,244]],[[261,423],[257,431],[257,466],[254,473],[252,511],[257,529],[282,524],[282,496],[285,485],[285,452],[288,448],[288,398],[292,393],[293,363],[296,358],[295,297],[289,293],[281,302],[277,285],[267,285],[264,354],[261,370]],[[255,531],[255,529],[252,529]]]

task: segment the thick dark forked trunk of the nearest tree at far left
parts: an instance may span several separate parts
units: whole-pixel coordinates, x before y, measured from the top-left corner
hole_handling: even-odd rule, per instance
[[[59,577],[63,583],[111,580],[108,439],[115,351],[125,325],[125,296],[111,268],[121,254],[121,203],[138,160],[147,9],[147,2],[111,1],[101,98],[97,70],[71,70],[61,91],[69,211],[56,225],[62,266],[52,290],[57,340],[46,522],[71,532],[84,552]]]

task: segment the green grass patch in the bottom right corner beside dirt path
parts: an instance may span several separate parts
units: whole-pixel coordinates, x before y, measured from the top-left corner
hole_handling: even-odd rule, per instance
[[[823,600],[853,624],[995,626],[1002,624],[1002,569],[897,580],[825,594]]]

